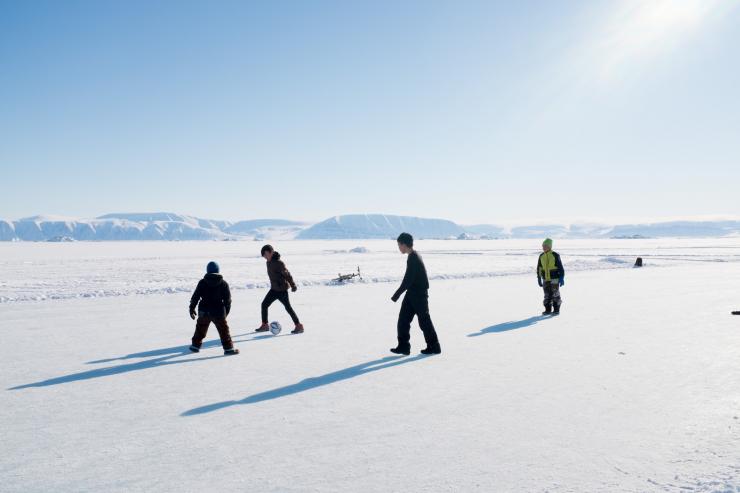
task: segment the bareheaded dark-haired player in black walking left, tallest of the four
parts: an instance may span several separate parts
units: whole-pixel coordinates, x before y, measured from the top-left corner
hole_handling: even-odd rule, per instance
[[[411,353],[411,321],[416,316],[427,343],[426,349],[422,349],[421,353],[440,354],[442,348],[429,315],[429,279],[426,267],[414,250],[414,238],[410,234],[401,233],[397,241],[398,249],[401,253],[408,255],[408,259],[406,259],[406,274],[403,276],[401,286],[391,297],[395,303],[404,291],[406,292],[398,314],[398,346],[391,349],[391,352],[405,355]]]

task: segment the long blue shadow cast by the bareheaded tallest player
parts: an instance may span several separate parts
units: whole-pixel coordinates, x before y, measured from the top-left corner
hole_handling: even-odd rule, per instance
[[[306,378],[298,383],[287,385],[285,387],[279,387],[277,389],[268,390],[266,392],[260,392],[259,394],[250,395],[239,401],[223,401],[216,402],[214,404],[208,404],[206,406],[196,407],[194,409],[190,409],[189,411],[185,411],[181,414],[181,416],[197,416],[199,414],[218,411],[226,407],[240,406],[244,404],[257,404],[258,402],[278,399],[280,397],[287,397],[289,395],[306,392],[307,390],[312,390],[318,387],[323,387],[324,385],[330,385],[342,380],[359,377],[361,375],[365,375],[374,371],[380,371],[387,368],[392,368],[394,366],[405,365],[407,363],[419,361],[427,357],[428,356],[425,356],[423,354],[413,356],[411,358],[405,358],[403,356],[387,356],[385,358],[368,361],[366,363],[351,366],[349,368],[345,368],[343,370],[335,371],[332,373],[327,373],[318,377]]]

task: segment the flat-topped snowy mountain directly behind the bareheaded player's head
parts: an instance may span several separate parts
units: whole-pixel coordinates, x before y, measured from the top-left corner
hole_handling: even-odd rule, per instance
[[[449,238],[465,233],[465,228],[445,219],[425,219],[385,214],[334,216],[301,231],[298,239],[395,238],[402,232],[418,238]]]

